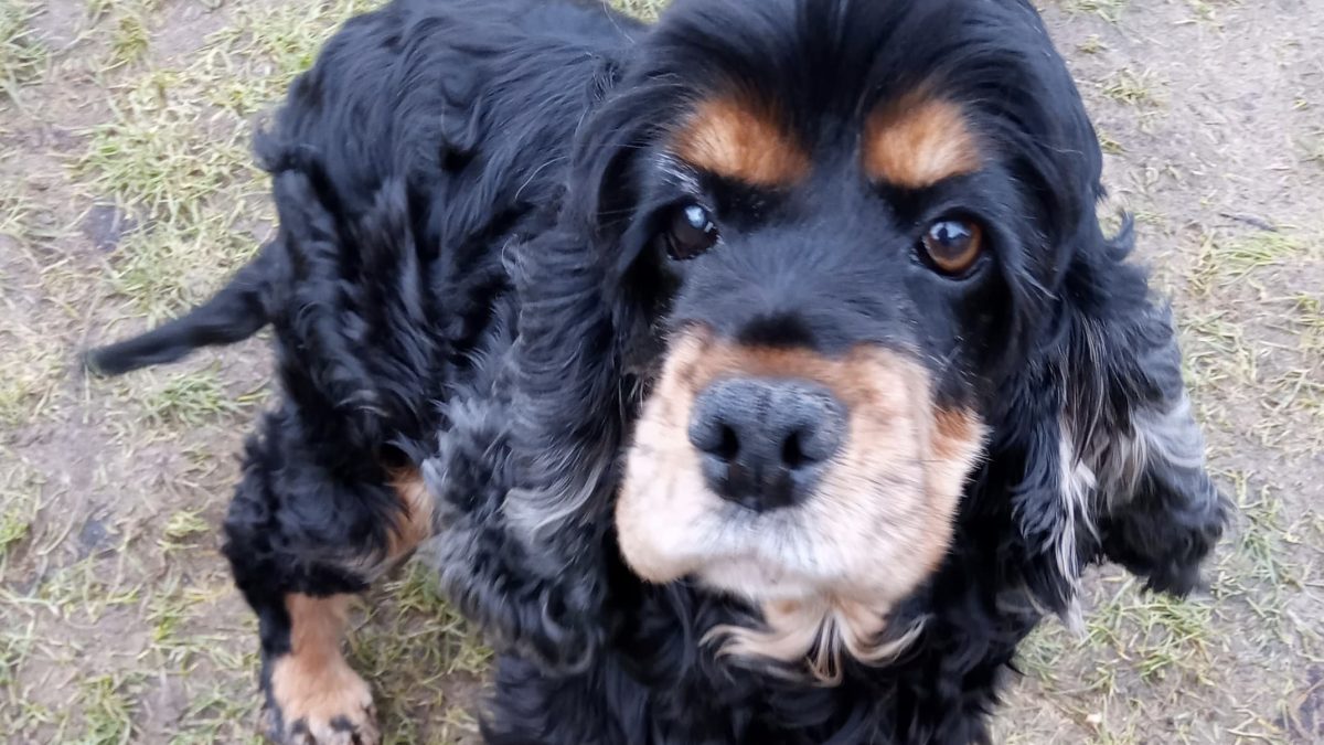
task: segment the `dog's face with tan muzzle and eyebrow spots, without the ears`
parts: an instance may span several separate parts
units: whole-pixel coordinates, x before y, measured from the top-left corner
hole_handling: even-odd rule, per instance
[[[616,528],[643,579],[761,610],[732,650],[882,654],[1023,362],[1018,301],[1078,217],[1051,211],[1090,208],[1088,158],[1043,172],[1088,137],[1061,61],[988,5],[692,3],[645,45],[657,119],[604,209],[665,351]]]

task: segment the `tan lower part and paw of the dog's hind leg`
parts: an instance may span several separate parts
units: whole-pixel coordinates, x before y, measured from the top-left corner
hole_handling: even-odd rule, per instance
[[[285,598],[290,654],[277,658],[270,671],[283,738],[295,741],[294,733],[306,732],[314,742],[369,745],[379,740],[372,691],[340,654],[348,602],[348,595]]]

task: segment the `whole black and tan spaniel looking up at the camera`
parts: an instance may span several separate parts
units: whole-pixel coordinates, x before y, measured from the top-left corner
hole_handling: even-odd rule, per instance
[[[967,744],[1112,561],[1230,518],[1027,0],[395,0],[256,150],[279,227],[105,374],[274,330],[225,520],[282,744],[375,744],[428,545],[494,744]]]

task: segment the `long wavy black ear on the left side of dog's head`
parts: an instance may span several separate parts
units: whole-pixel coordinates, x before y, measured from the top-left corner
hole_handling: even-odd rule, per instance
[[[591,86],[613,94],[610,66]],[[512,302],[455,391],[451,431],[424,475],[446,510],[434,547],[448,595],[503,648],[547,671],[583,671],[609,630],[602,612],[612,494],[638,406],[625,365],[641,321],[620,278],[621,176],[633,114],[601,103],[577,133],[569,187],[506,251]]]

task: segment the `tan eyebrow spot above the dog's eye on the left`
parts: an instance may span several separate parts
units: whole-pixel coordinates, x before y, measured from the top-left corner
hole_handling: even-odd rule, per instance
[[[809,172],[809,156],[767,107],[740,97],[700,102],[675,134],[688,164],[755,186],[789,186]]]

